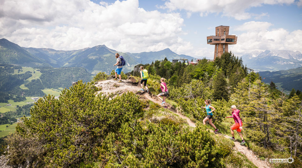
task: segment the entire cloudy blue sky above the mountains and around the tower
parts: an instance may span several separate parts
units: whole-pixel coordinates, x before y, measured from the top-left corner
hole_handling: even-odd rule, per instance
[[[118,52],[170,48],[213,59],[207,36],[230,26],[229,51],[302,52],[302,0],[0,0],[0,39],[21,47]]]

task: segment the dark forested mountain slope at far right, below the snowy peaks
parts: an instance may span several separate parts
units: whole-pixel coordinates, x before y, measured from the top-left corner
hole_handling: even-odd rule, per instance
[[[262,77],[263,82],[270,83],[273,81],[276,83],[279,90],[282,90],[282,88],[287,91],[291,91],[292,88],[295,90],[302,90],[302,67],[274,72],[263,71],[258,73]],[[280,85],[277,83],[280,83]]]

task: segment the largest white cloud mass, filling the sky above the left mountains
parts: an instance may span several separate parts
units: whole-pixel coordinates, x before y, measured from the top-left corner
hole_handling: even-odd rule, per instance
[[[179,38],[184,34],[179,13],[145,11],[138,7],[138,0],[111,4],[89,0],[1,3],[0,38],[23,47],[75,50],[104,44],[122,52],[168,47],[182,52],[192,48]]]

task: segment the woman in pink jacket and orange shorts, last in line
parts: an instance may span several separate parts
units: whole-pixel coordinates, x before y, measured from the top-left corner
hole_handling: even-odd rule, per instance
[[[245,144],[245,141],[243,139],[243,136],[241,134],[241,130],[243,129],[242,128],[242,121],[240,119],[240,110],[237,109],[237,107],[235,105],[232,105],[231,106],[231,109],[232,109],[232,116],[228,116],[226,118],[233,118],[235,123],[231,126],[231,134],[232,134],[232,137],[230,137],[231,140],[235,140],[235,137],[234,137],[234,131],[233,130],[237,130],[237,133],[239,134],[240,138],[241,138],[241,145],[242,144]]]

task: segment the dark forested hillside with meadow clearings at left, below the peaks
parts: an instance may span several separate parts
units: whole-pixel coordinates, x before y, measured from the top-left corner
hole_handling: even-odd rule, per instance
[[[44,88],[68,88],[73,81],[87,82],[92,78],[84,68],[77,67],[43,67],[32,70],[24,72],[21,66],[0,64],[0,102],[8,102],[10,99],[20,102],[25,100],[25,96],[42,97],[45,95],[42,91]],[[38,71],[42,73],[41,76],[29,80]],[[20,88],[22,84],[24,84],[24,89]]]

